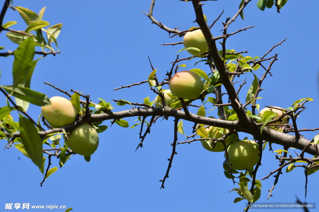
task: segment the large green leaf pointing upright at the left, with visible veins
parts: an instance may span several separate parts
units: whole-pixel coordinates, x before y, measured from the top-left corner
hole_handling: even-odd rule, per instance
[[[16,86],[24,86],[31,66],[34,65],[34,52],[34,41],[32,37],[28,37],[26,40],[24,40],[14,51],[14,61],[12,68],[13,88]]]

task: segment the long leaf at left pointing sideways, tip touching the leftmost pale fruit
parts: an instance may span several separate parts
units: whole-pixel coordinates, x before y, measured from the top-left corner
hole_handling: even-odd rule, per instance
[[[0,87],[2,87],[8,93],[12,92],[12,85],[8,85],[8,86],[0,85]],[[38,105],[38,106],[51,105],[51,102],[49,98],[47,97],[47,95],[40,93],[38,91],[33,91],[29,88],[17,86],[14,89],[14,92],[12,95],[15,97],[18,97],[19,99],[30,102],[34,105]]]

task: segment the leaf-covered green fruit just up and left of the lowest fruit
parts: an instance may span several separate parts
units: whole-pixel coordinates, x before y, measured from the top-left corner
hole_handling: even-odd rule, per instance
[[[228,129],[224,129],[223,130],[223,134],[218,132],[218,128],[215,128],[215,127],[212,127],[210,126],[209,128],[206,128],[206,131],[209,135],[210,138],[216,138],[216,139],[219,139],[221,137],[221,135],[225,135],[227,133],[229,133],[229,130]],[[202,137],[201,137],[202,138]],[[216,143],[214,149],[211,148],[211,146],[208,144],[210,143],[211,141],[209,140],[202,140],[201,143],[202,143],[202,146],[206,149],[206,150],[209,150],[209,151],[212,151],[212,152],[223,152],[225,151],[225,148],[224,148],[224,145],[223,143],[221,142],[218,142]],[[226,142],[226,147],[228,147],[230,144],[234,143],[235,140],[232,139],[231,137],[227,137],[225,139],[225,142]]]

